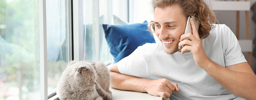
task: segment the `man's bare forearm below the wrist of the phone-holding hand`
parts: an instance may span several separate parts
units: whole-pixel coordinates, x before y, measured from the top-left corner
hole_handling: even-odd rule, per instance
[[[240,66],[243,67],[243,66]],[[202,67],[210,76],[232,94],[245,99],[255,99],[256,77],[250,73],[232,71],[211,61]]]

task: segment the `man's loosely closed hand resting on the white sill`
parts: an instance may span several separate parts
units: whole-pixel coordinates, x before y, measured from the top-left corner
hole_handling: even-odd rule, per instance
[[[172,91],[179,92],[177,83],[171,83],[167,79],[157,79],[157,80],[148,80],[146,86],[143,87],[148,94],[154,96],[163,97],[165,100],[169,98],[172,94]]]

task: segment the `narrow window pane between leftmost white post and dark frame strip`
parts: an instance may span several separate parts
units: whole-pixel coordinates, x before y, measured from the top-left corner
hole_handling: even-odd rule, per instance
[[[48,95],[56,92],[61,73],[70,59],[66,5],[64,0],[46,0]]]

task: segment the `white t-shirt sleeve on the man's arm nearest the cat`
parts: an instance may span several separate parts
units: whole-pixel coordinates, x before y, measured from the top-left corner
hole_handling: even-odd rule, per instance
[[[117,68],[120,73],[140,78],[148,78],[146,62],[143,57],[143,46],[139,46],[132,54],[118,62]]]

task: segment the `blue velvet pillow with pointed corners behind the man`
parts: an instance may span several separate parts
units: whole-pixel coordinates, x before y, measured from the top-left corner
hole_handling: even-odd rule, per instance
[[[103,24],[105,38],[115,63],[130,55],[138,46],[155,43],[154,36],[147,31],[147,21],[137,24]]]

